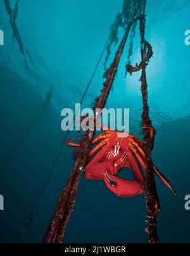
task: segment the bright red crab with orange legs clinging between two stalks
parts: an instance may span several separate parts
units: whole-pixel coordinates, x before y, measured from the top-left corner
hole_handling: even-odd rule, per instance
[[[101,126],[105,132],[96,137],[92,144],[97,144],[89,153],[91,158],[98,150],[98,153],[91,158],[89,164],[85,167],[84,175],[87,179],[104,180],[108,189],[117,196],[132,197],[144,193],[144,176],[139,168],[139,164],[146,175],[147,168],[144,159],[146,157],[143,150],[143,142],[131,134],[106,129]],[[151,127],[151,136],[155,136],[155,130]],[[75,138],[73,138],[75,139]],[[68,146],[80,147],[80,144],[72,143],[73,139],[66,143]],[[139,163],[139,164],[138,164]],[[124,167],[129,167],[134,173],[134,181],[120,179],[115,175]],[[154,166],[155,173],[176,195],[170,183]],[[158,203],[155,205],[158,212]]]

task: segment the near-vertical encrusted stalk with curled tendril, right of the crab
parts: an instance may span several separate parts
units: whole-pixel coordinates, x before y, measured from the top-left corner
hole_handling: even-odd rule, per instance
[[[155,141],[155,129],[153,128],[151,119],[149,117],[149,106],[148,106],[148,84],[146,80],[146,66],[149,63],[150,58],[153,56],[153,50],[151,44],[145,40],[145,27],[146,27],[146,18],[145,18],[145,8],[146,0],[144,3],[144,9],[139,19],[139,30],[141,36],[141,57],[142,61],[136,67],[127,65],[127,72],[132,74],[132,72],[137,72],[142,70],[141,74],[141,93],[143,98],[143,132],[144,132],[144,152],[146,153],[145,163],[146,163],[146,177],[144,181],[144,190],[146,198],[146,208],[148,210],[148,227],[146,232],[149,234],[148,243],[159,243],[158,233],[156,227],[156,215],[160,211],[160,202],[158,194],[156,191],[156,183],[154,177],[154,167],[151,160],[151,153]],[[154,131],[154,132],[152,132]]]

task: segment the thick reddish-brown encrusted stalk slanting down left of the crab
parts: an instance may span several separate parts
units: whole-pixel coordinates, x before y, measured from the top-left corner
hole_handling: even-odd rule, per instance
[[[101,110],[105,107],[106,101],[113,86],[115,75],[118,69],[118,64],[120,63],[120,58],[124,51],[125,43],[127,41],[132,22],[129,23],[127,30],[125,32],[124,38],[120,43],[115,58],[107,73],[106,82],[103,83],[103,89],[101,95],[96,99],[94,104],[94,120],[101,117]],[[87,131],[80,140],[80,154],[78,154],[73,167],[72,173],[66,183],[65,188],[60,195],[60,200],[56,212],[54,213],[53,219],[47,230],[47,234],[44,238],[44,243],[61,243],[65,236],[65,229],[72,214],[73,207],[75,205],[75,200],[77,197],[77,189],[79,187],[80,177],[82,171],[88,160],[89,151],[91,150],[91,141],[94,136],[94,131],[96,131],[96,122],[94,122],[93,131]]]

